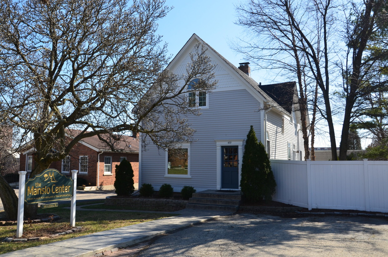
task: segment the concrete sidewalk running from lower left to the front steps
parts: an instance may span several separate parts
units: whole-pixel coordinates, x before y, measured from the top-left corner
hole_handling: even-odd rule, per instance
[[[165,212],[166,213],[166,212]],[[149,240],[154,236],[163,234],[182,227],[207,221],[218,216],[228,215],[229,212],[217,212],[208,210],[184,209],[177,212],[175,217],[168,217],[154,221],[143,222],[131,226],[119,227],[79,236],[63,241],[57,241],[46,245],[39,245],[23,250],[9,252],[1,257],[89,257],[105,250],[116,247],[127,247]]]

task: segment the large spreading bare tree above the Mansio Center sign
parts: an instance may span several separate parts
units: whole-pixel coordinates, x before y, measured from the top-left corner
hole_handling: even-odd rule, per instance
[[[160,147],[192,139],[185,115],[200,113],[185,96],[214,89],[214,66],[198,44],[185,74],[165,70],[156,22],[169,10],[159,0],[1,2],[0,119],[35,148],[31,175],[94,135],[112,149],[128,131]],[[192,78],[201,83],[188,90]]]

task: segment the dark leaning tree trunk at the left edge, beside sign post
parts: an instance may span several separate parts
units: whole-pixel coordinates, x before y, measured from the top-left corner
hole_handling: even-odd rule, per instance
[[[11,186],[5,181],[4,177],[0,174],[0,199],[3,203],[5,214],[11,221],[17,220],[17,204],[18,198]]]

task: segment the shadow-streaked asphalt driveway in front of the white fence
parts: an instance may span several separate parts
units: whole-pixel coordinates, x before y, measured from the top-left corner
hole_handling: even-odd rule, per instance
[[[388,256],[388,220],[237,214],[161,236],[135,256]]]

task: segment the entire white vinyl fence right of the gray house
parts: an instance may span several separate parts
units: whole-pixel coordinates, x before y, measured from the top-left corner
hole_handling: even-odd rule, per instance
[[[270,161],[274,201],[309,210],[388,212],[388,161]]]

